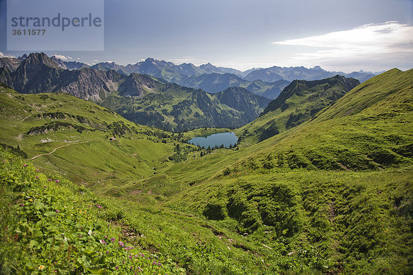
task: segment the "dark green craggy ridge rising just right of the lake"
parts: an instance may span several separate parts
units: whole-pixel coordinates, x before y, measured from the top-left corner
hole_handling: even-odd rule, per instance
[[[260,118],[242,126],[237,134],[246,143],[266,140],[310,120],[359,84],[358,80],[338,75],[323,80],[294,80],[268,104]]]

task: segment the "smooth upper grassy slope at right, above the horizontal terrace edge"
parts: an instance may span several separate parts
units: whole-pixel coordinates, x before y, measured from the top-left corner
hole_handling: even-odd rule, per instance
[[[411,164],[412,76],[412,69],[393,69],[367,80],[310,122],[257,144],[257,153],[233,169],[366,170]]]

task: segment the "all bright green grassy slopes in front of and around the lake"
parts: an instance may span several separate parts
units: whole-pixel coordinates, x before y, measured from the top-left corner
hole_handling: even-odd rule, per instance
[[[412,76],[393,69],[282,133],[202,156],[180,141],[219,130],[172,134],[71,96],[1,88],[4,147],[45,155],[0,152],[0,266],[153,274],[154,260],[162,274],[412,274]],[[137,253],[145,258],[129,265]]]

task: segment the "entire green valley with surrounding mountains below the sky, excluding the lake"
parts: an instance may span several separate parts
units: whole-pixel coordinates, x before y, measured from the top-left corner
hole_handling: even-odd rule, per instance
[[[315,67],[270,100],[198,89],[242,72],[162,65],[197,71],[191,88],[150,61],[151,76],[136,72],[147,61],[62,69],[44,54],[2,68],[3,273],[413,271],[412,69],[361,81]],[[266,80],[288,76],[276,69]],[[187,142],[231,131],[231,148]]]

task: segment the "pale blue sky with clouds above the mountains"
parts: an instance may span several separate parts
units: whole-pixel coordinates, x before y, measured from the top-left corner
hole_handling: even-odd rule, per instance
[[[44,52],[89,64],[127,65],[152,57],[241,70],[319,65],[336,72],[381,72],[413,67],[413,0],[102,1],[103,51]],[[6,14],[6,0],[0,0],[0,56],[29,53],[8,51]]]

